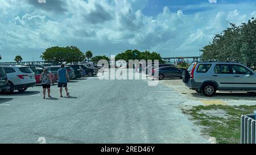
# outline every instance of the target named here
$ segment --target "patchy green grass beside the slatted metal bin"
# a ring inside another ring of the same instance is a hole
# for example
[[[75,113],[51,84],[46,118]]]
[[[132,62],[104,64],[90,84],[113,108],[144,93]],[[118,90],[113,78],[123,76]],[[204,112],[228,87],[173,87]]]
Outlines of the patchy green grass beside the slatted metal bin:
[[[184,108],[183,113],[191,115],[195,124],[203,126],[205,135],[216,137],[217,143],[239,144],[241,115],[252,114],[254,110],[256,106],[211,105],[191,107],[189,110]],[[221,115],[218,111],[222,111]]]

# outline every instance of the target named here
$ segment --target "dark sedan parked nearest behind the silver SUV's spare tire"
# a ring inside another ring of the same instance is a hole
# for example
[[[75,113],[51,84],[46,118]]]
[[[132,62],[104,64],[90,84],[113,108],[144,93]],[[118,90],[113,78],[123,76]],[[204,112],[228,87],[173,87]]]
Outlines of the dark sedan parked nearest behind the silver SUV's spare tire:
[[[158,72],[158,75],[155,73]],[[182,78],[183,70],[173,67],[173,66],[163,66],[157,69],[152,70],[152,76],[162,80],[164,78]]]

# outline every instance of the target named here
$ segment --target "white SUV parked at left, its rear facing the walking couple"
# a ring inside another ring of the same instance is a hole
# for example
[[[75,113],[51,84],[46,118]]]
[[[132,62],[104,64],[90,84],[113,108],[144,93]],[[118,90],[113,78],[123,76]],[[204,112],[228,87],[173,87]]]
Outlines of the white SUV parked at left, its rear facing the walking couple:
[[[2,66],[10,84],[9,93],[14,90],[26,91],[28,87],[36,85],[35,74],[29,66]]]

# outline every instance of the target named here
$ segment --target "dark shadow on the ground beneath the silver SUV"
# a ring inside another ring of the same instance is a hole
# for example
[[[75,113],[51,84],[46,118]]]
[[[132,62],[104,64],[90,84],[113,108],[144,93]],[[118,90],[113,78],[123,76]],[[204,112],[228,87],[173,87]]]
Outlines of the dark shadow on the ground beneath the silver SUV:
[[[249,93],[216,93],[213,97],[205,97],[201,93],[191,93],[195,98],[201,99],[243,99],[243,100],[256,100],[256,95],[251,95]]]

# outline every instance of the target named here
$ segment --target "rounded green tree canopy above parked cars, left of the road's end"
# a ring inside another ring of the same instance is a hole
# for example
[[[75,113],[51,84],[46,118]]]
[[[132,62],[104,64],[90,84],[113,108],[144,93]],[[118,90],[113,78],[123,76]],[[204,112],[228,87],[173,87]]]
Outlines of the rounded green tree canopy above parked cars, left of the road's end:
[[[49,62],[80,62],[85,60],[85,55],[76,46],[51,47],[47,48],[41,56],[43,60]]]

